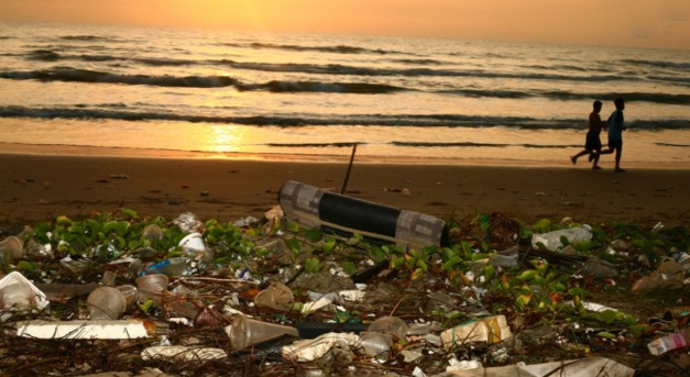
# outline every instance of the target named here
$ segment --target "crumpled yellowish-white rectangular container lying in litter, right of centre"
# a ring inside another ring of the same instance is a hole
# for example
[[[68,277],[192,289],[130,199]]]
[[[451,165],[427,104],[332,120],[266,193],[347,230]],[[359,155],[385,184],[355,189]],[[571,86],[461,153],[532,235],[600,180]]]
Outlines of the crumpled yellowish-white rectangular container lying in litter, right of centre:
[[[481,320],[472,320],[459,326],[448,329],[441,333],[443,346],[449,348],[456,344],[466,342],[499,343],[511,337],[504,315],[489,317]]]

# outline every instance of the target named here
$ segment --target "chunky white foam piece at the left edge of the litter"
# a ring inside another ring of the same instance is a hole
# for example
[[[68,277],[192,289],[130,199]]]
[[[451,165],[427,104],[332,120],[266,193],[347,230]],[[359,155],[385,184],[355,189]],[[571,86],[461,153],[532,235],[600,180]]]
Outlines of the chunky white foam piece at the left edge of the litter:
[[[0,279],[0,309],[39,309],[51,303],[41,289],[18,271],[12,271]]]

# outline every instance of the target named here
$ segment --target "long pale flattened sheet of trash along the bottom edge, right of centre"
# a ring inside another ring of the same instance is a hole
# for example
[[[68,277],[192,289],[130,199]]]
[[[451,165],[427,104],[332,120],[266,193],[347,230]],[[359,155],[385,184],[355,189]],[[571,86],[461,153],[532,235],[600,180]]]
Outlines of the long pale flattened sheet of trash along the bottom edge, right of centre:
[[[551,362],[544,364],[526,365],[517,363],[515,365],[499,366],[491,368],[478,367],[464,370],[446,372],[438,377],[514,377],[514,376],[532,376],[532,377],[590,377],[590,376],[607,376],[607,377],[632,377],[635,369],[616,363],[605,357],[587,357],[573,361]]]

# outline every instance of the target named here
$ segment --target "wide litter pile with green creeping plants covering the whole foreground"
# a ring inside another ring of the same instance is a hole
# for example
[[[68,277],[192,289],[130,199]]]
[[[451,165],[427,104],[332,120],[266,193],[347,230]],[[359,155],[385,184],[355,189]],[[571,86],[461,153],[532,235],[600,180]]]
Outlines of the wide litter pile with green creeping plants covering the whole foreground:
[[[0,373],[690,372],[686,228],[443,222],[285,189],[264,219],[119,209],[4,234]]]

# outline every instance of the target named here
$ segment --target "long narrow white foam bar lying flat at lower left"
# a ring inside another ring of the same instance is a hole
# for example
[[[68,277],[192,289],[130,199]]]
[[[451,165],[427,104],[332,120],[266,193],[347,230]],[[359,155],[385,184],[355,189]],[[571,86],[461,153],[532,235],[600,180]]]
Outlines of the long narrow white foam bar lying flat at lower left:
[[[17,335],[36,339],[147,337],[144,321],[29,321],[17,324]]]

